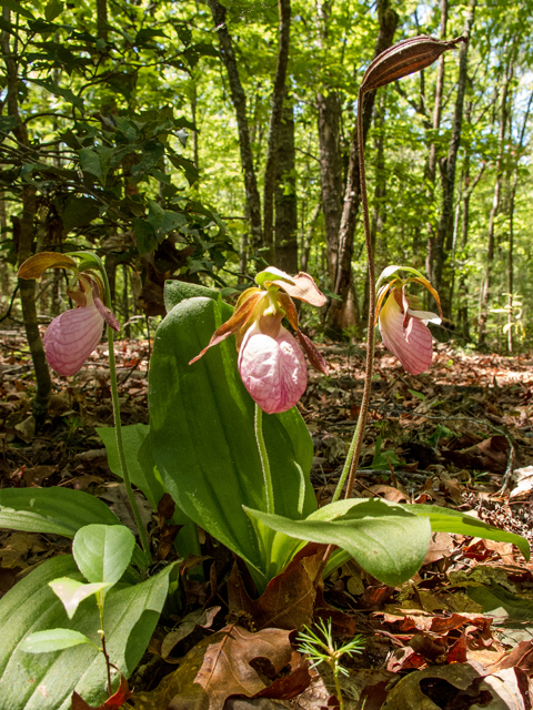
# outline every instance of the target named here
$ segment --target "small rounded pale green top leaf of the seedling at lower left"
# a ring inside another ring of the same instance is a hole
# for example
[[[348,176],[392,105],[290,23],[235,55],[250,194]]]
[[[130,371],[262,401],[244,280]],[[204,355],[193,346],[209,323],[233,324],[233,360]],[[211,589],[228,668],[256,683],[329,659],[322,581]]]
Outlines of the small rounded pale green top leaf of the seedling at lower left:
[[[130,564],[135,538],[123,525],[88,525],[74,536],[72,555],[90,582],[115,585]]]

